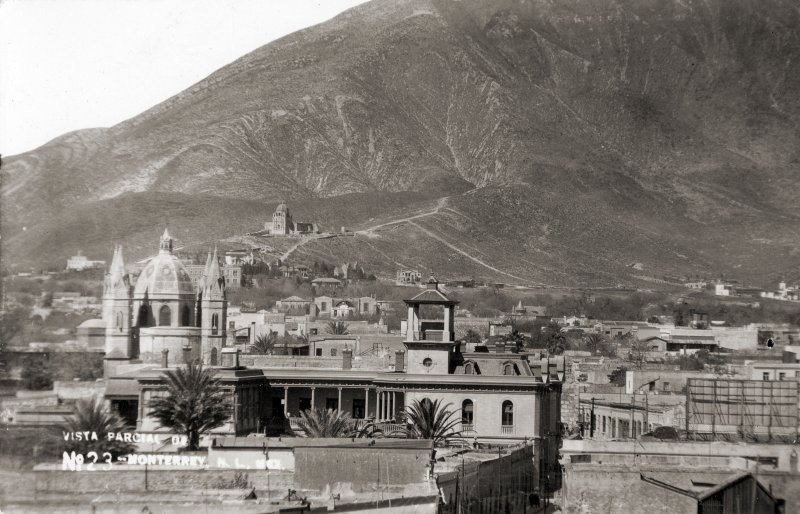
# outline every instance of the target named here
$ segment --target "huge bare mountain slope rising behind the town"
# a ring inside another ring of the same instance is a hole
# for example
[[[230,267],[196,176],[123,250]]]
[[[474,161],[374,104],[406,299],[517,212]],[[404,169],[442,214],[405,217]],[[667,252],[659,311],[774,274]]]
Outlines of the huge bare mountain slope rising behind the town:
[[[4,263],[288,201],[357,231],[293,259],[387,276],[766,285],[800,262],[798,120],[792,0],[373,0],[5,159]]]

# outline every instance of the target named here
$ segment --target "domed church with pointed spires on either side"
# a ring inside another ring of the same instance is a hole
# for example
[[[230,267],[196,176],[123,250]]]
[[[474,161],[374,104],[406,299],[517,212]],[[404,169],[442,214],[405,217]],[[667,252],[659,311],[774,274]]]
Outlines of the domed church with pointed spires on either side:
[[[117,247],[103,288],[106,376],[121,364],[164,356],[170,364],[190,359],[216,365],[225,344],[227,305],[216,249],[195,286],[172,253],[168,231],[135,282]]]

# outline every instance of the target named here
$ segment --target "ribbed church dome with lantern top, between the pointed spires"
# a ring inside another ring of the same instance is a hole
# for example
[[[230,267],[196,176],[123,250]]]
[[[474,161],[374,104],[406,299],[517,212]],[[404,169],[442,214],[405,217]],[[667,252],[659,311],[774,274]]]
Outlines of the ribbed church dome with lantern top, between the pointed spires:
[[[172,254],[172,238],[165,231],[161,238],[161,250],[145,265],[136,280],[133,294],[141,298],[145,294],[154,296],[194,295],[195,288],[186,268]]]

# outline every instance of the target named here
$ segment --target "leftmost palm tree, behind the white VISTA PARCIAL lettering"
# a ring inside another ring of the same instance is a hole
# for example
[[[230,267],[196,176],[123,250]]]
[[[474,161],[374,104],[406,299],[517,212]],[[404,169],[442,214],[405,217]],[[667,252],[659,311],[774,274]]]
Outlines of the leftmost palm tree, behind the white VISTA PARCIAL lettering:
[[[78,400],[75,404],[75,411],[72,416],[65,420],[59,427],[63,432],[93,432],[97,434],[97,440],[80,441],[68,440],[65,444],[67,452],[80,453],[86,455],[89,452],[96,452],[100,460],[105,460],[103,453],[108,452],[113,458],[118,455],[134,451],[135,446],[130,442],[109,440],[107,434],[126,432],[129,430],[125,421],[114,411],[106,408],[103,401],[99,398],[88,400]]]

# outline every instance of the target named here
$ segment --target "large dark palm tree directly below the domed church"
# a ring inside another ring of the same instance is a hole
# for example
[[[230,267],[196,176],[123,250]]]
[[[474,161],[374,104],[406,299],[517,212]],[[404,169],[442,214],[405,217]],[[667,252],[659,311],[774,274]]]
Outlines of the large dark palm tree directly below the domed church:
[[[159,426],[184,434],[187,449],[200,447],[200,436],[228,421],[230,407],[219,385],[216,372],[202,364],[189,363],[185,368],[164,373],[167,396],[152,402],[151,415]]]

